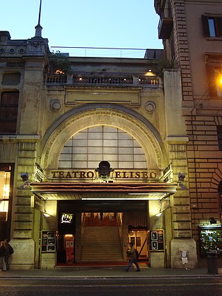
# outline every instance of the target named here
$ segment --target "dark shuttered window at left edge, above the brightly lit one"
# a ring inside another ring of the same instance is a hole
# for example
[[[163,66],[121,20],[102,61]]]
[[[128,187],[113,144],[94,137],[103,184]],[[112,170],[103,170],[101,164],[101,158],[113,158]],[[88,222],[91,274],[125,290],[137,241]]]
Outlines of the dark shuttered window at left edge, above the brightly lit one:
[[[2,92],[0,101],[0,133],[15,134],[19,92]]]

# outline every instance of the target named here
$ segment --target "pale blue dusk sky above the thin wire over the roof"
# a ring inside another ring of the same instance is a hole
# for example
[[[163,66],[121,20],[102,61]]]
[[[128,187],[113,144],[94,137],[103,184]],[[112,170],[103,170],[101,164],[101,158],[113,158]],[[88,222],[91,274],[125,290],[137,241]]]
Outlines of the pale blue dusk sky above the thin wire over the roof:
[[[162,49],[154,0],[42,0],[42,37],[49,46]],[[34,37],[40,0],[2,1],[0,31]]]

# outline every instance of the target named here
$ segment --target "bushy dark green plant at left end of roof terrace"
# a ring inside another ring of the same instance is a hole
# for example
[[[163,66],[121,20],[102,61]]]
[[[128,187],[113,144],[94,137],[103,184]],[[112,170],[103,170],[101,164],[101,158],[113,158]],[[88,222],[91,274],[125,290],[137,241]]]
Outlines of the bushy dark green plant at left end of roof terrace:
[[[69,58],[60,51],[49,55],[49,71],[54,74],[65,74],[71,71]]]

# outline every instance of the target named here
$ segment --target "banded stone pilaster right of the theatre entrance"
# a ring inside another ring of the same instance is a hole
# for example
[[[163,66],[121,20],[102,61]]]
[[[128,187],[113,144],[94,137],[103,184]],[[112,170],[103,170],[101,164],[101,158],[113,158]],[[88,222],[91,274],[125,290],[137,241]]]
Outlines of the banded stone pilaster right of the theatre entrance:
[[[197,254],[196,241],[191,238],[191,209],[188,187],[188,163],[187,163],[188,137],[168,137],[169,159],[173,167],[173,180],[178,182],[178,173],[185,173],[185,186],[173,195],[171,209],[173,239],[171,241],[171,268],[183,268],[182,252],[187,252],[189,258],[187,268],[196,268]]]

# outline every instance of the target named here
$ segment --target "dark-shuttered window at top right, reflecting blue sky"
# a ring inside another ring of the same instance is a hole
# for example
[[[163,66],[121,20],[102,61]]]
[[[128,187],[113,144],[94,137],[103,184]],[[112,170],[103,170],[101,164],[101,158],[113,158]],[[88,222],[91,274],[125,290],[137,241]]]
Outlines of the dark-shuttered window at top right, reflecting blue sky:
[[[201,15],[203,35],[206,37],[222,37],[222,17]]]

